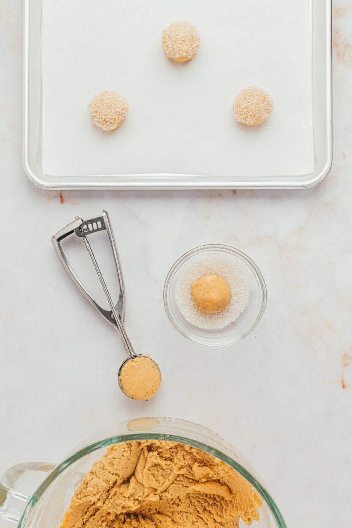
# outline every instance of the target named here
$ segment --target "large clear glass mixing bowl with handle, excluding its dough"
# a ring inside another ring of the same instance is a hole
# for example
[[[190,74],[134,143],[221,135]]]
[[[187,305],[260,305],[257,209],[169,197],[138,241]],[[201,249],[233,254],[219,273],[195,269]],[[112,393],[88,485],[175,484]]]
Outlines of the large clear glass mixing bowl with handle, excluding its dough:
[[[85,441],[58,465],[14,466],[0,477],[0,518],[17,523],[18,528],[58,528],[75,489],[107,448],[119,442],[145,439],[179,442],[220,458],[249,480],[263,498],[260,521],[253,527],[286,528],[277,505],[243,456],[211,430],[173,418],[139,418],[118,423]]]

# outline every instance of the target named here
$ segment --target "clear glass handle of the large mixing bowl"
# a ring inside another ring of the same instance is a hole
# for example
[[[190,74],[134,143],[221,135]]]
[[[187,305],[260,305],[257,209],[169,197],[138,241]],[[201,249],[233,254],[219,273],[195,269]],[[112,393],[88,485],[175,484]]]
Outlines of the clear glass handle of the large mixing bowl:
[[[26,462],[7,469],[0,477],[0,521],[17,524],[28,499],[54,467],[45,462]]]

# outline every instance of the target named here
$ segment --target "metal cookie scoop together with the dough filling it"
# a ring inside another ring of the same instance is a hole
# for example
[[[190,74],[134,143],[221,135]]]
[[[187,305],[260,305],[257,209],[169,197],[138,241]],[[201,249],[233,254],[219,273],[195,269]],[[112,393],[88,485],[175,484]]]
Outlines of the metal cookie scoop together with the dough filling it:
[[[119,280],[120,291],[116,305],[113,304],[106,283],[103,279],[103,276],[101,275],[97,260],[94,257],[94,253],[87,239],[88,235],[102,230],[106,230],[107,232]],[[94,301],[87,289],[85,289],[83,286],[78,276],[75,274],[73,268],[66,258],[61,241],[72,234],[75,234],[77,237],[83,239],[85,247],[87,248],[89,256],[93,262],[94,269],[97,272],[104,294],[108,300],[110,311],[102,308],[98,303],[96,303],[96,301]],[[150,359],[148,356],[136,354],[126,330],[122,325],[123,319],[125,318],[125,287],[123,286],[120,260],[116,248],[115,238],[113,237],[110,226],[108,213],[103,211],[102,216],[98,216],[97,218],[92,218],[91,220],[86,221],[83,221],[81,218],[76,216],[74,222],[66,225],[66,227],[58,231],[55,235],[53,235],[51,240],[64,269],[68,273],[75,286],[77,286],[85,299],[88,300],[89,304],[91,304],[93,308],[96,309],[97,312],[117,330],[117,333],[120,336],[127,355],[127,359],[122,363],[118,373],[120,389],[129,398],[135,400],[149,400],[159,389],[161,383],[161,374],[159,366],[157,363],[155,363],[155,361]]]

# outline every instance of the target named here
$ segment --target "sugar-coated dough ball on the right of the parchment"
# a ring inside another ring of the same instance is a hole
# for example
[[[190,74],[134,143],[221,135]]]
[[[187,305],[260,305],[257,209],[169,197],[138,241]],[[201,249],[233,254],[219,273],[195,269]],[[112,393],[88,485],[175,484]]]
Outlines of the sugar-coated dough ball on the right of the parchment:
[[[242,90],[233,103],[235,118],[249,127],[262,125],[268,119],[273,102],[270,95],[258,86]]]

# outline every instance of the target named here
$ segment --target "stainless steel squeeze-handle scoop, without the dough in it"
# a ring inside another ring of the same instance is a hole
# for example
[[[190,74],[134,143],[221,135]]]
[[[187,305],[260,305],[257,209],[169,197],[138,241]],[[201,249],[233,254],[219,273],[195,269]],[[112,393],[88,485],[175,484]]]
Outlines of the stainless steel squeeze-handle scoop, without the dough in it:
[[[112,298],[109,294],[109,290],[106,286],[106,283],[103,279],[103,276],[101,274],[101,271],[99,269],[98,263],[96,258],[94,257],[94,253],[92,251],[92,248],[90,246],[90,243],[87,239],[88,235],[95,233],[97,231],[106,230],[108,239],[110,242],[110,246],[112,249],[113,258],[115,260],[115,266],[117,271],[117,276],[119,280],[119,298],[117,303],[114,305]],[[92,296],[88,293],[88,290],[83,286],[82,282],[78,278],[78,276],[75,274],[75,271],[70,265],[70,262],[66,258],[66,255],[64,253],[64,250],[61,245],[61,241],[65,238],[69,237],[70,235],[75,234],[77,237],[83,239],[83,242],[85,244],[85,247],[88,250],[89,256],[93,262],[94,269],[97,272],[100,284],[102,286],[102,289],[104,291],[104,294],[108,300],[110,310],[106,310],[102,308],[94,299]],[[146,357],[149,361],[153,362],[154,365],[157,366],[159,369],[157,363],[155,363],[154,360],[150,359],[150,357],[142,356],[141,354],[136,354],[134,351],[134,348],[129,340],[129,337],[126,333],[125,328],[123,327],[122,323],[125,318],[125,287],[123,285],[123,278],[122,278],[122,272],[121,272],[121,265],[120,265],[120,259],[118,256],[117,248],[116,248],[116,242],[115,238],[112,233],[109,216],[106,211],[103,211],[102,216],[98,216],[97,218],[92,218],[91,220],[83,221],[81,218],[78,218],[76,216],[75,221],[72,222],[69,225],[66,225],[66,227],[62,228],[60,231],[58,231],[56,234],[52,237],[52,243],[54,245],[55,251],[58,254],[58,257],[62,263],[62,266],[68,273],[69,277],[73,281],[74,285],[77,286],[77,288],[80,290],[81,294],[84,296],[85,299],[88,300],[89,304],[97,310],[97,312],[107,320],[108,323],[110,323],[116,330],[117,333],[120,336],[120,339],[122,341],[123,347],[125,348],[127,359],[122,363],[119,373],[118,373],[118,383],[120,386],[120,389],[124,394],[126,394],[129,398],[132,398],[123,388],[121,381],[120,381],[120,374],[122,372],[123,367],[126,365],[126,363],[132,359],[135,359],[136,357]],[[134,398],[132,398],[134,399]]]

